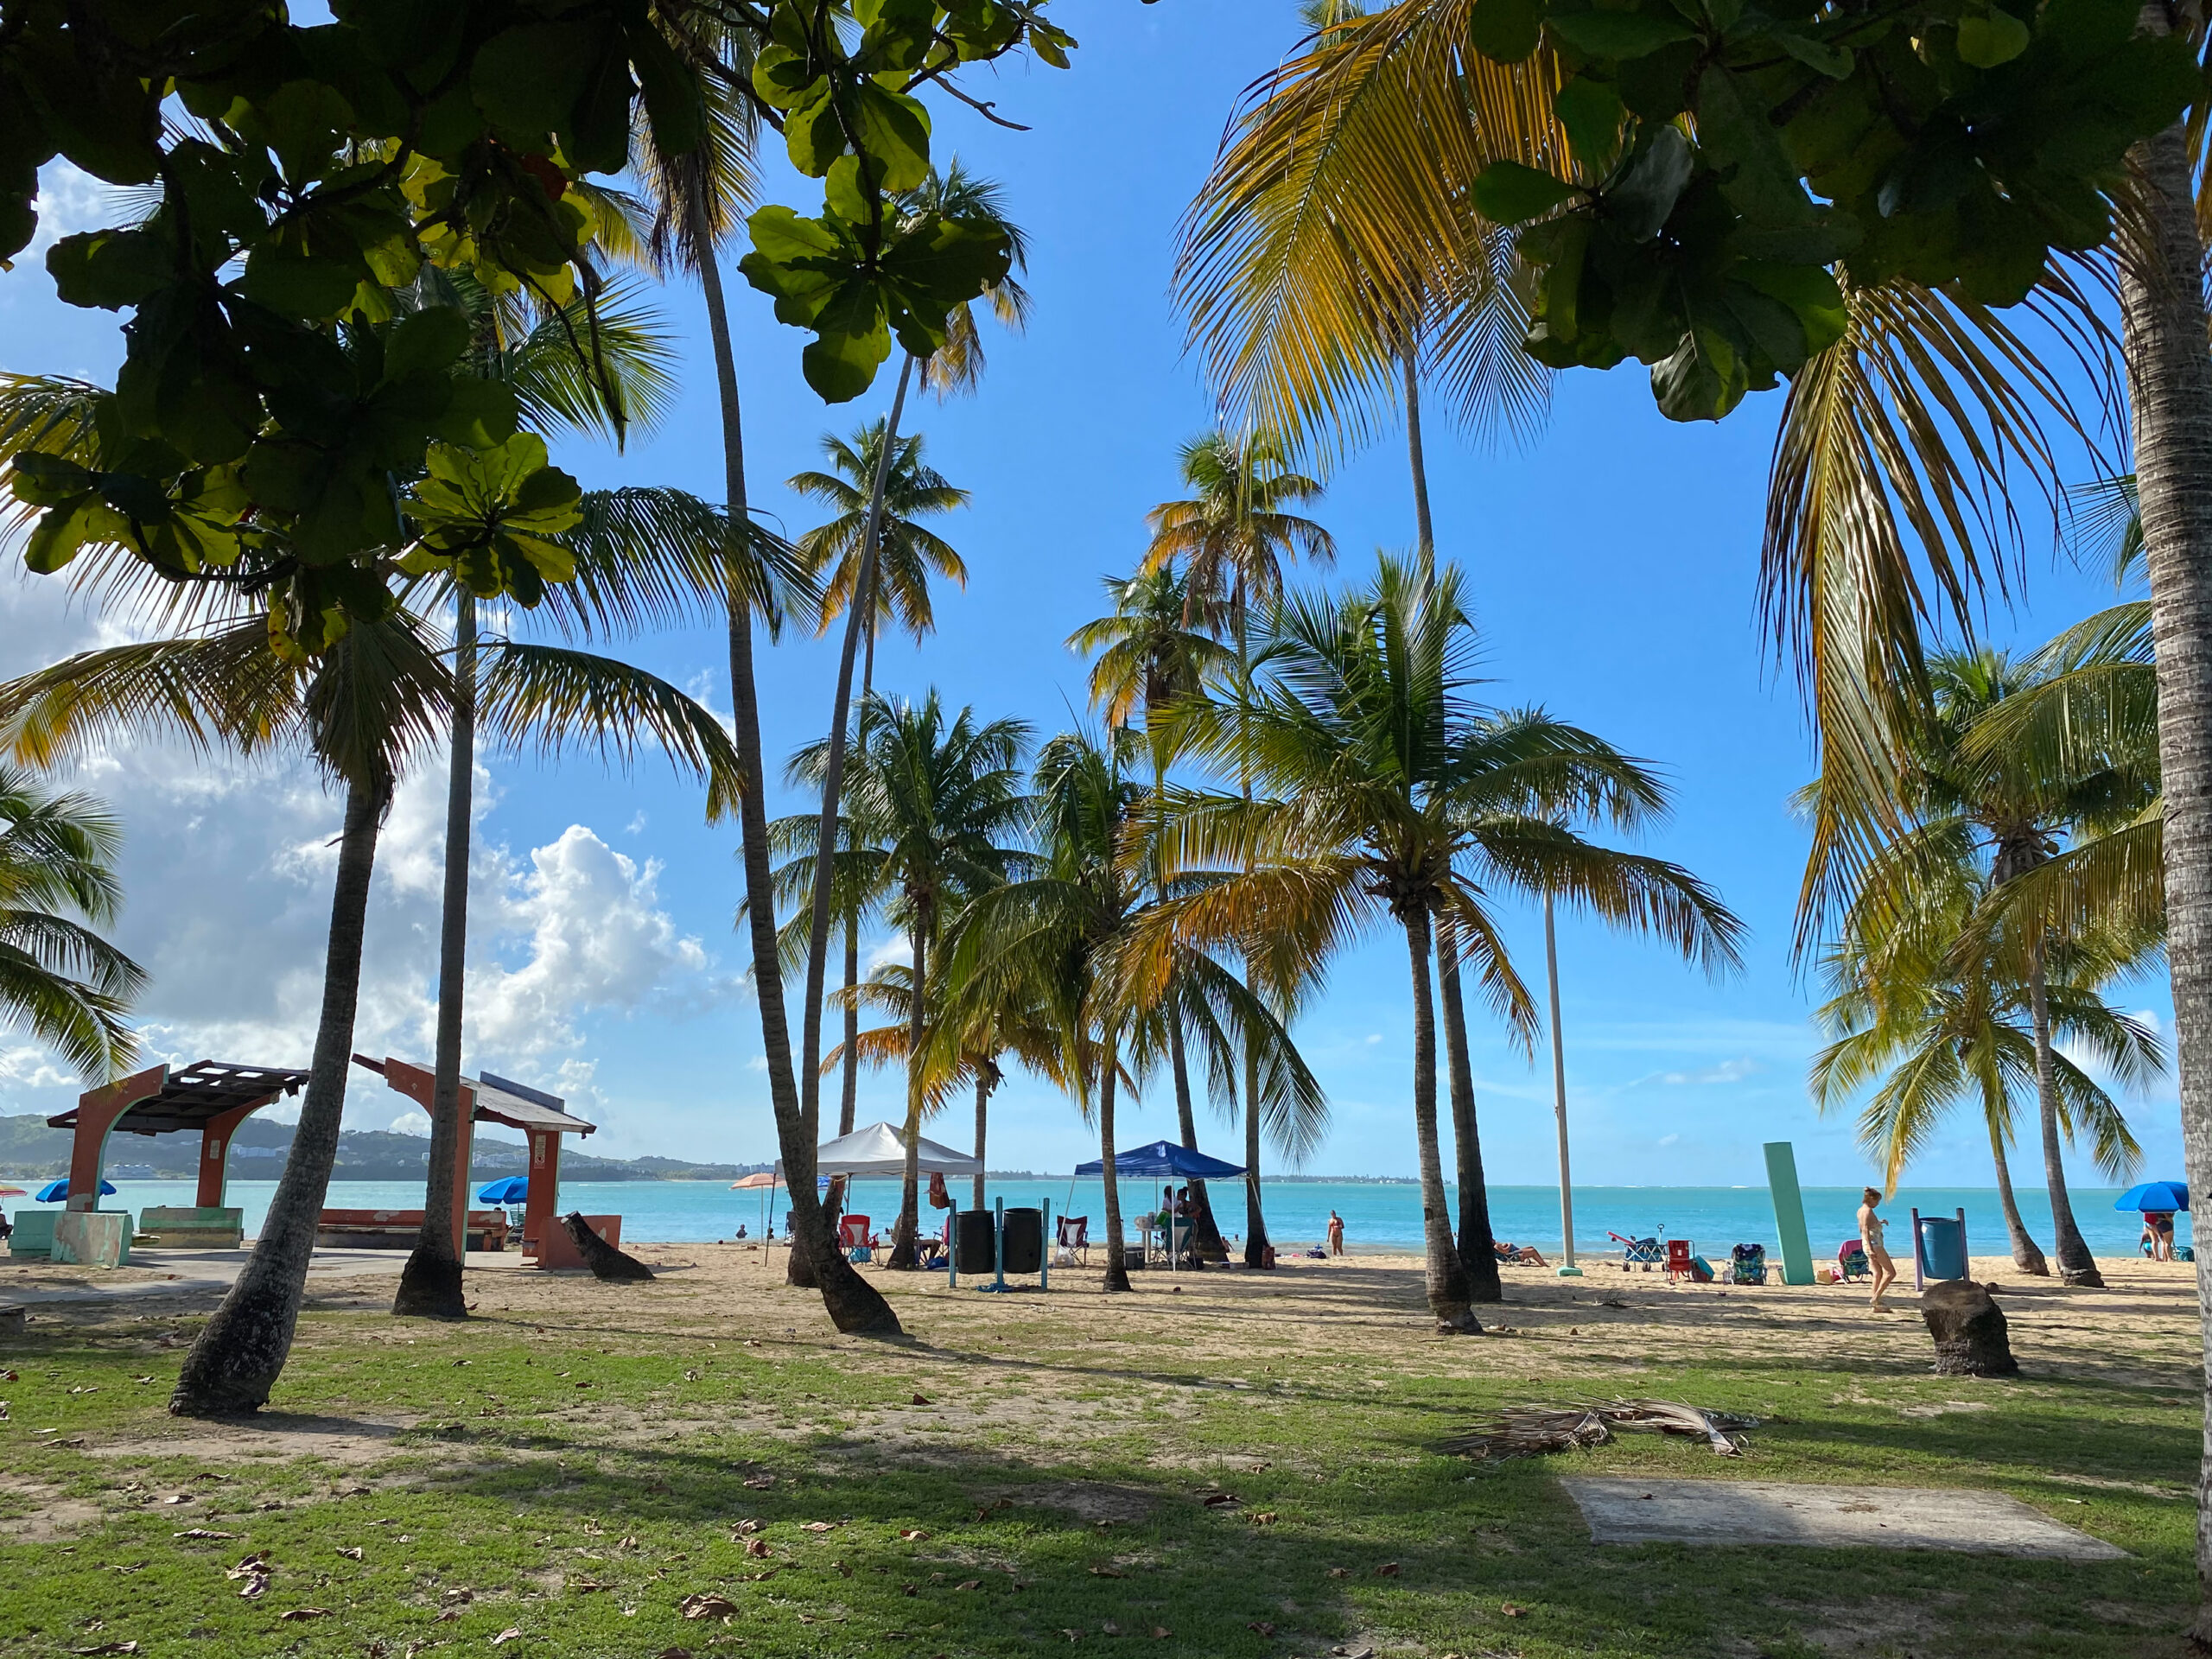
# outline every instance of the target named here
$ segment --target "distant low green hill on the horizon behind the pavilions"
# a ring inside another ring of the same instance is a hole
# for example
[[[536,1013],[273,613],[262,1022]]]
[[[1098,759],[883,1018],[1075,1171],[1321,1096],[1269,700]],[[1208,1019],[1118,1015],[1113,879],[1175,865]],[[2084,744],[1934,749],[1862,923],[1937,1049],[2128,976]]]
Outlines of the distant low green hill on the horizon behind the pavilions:
[[[588,1141],[586,1141],[588,1146]],[[230,1179],[274,1181],[292,1150],[292,1126],[248,1117],[230,1139]],[[524,1172],[526,1148],[509,1141],[478,1139],[469,1159],[469,1179],[493,1179]],[[108,1139],[106,1168],[111,1177],[146,1181],[190,1181],[199,1159],[197,1135],[115,1135]],[[394,1135],[380,1128],[349,1128],[338,1135],[336,1181],[420,1181],[429,1164],[429,1141],[422,1135]],[[562,1148],[560,1172],[566,1181],[734,1181],[765,1170],[765,1164],[688,1164],[677,1157],[591,1157],[575,1141]],[[31,1113],[0,1115],[0,1177],[13,1181],[46,1181],[69,1175],[69,1130],[46,1128]]]

